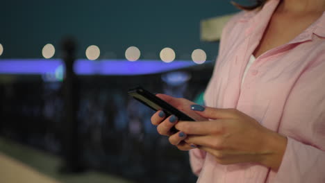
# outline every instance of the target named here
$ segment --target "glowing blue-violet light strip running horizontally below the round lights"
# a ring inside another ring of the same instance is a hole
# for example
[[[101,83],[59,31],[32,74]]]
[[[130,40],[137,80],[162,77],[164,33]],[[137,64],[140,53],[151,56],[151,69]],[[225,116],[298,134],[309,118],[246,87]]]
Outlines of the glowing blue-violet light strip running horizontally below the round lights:
[[[57,73],[62,69],[59,59],[1,59],[0,74],[34,74]],[[163,73],[196,65],[189,60],[175,60],[165,63],[160,60],[76,60],[74,71],[78,75],[132,76],[150,73]]]

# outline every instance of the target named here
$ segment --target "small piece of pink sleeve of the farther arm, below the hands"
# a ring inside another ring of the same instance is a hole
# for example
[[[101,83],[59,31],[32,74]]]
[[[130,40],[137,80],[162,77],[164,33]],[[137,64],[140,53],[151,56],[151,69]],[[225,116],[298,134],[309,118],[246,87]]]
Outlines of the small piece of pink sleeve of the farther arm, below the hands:
[[[206,158],[206,152],[199,150],[198,148],[190,150],[190,165],[192,172],[199,176],[203,167],[204,159]]]

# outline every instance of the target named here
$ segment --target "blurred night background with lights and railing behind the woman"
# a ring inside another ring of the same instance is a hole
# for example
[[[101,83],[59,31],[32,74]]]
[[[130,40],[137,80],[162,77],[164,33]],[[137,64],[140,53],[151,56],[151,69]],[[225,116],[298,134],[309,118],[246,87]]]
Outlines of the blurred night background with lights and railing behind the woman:
[[[0,182],[196,182],[188,152],[127,91],[203,104],[234,12],[222,0],[1,1]]]

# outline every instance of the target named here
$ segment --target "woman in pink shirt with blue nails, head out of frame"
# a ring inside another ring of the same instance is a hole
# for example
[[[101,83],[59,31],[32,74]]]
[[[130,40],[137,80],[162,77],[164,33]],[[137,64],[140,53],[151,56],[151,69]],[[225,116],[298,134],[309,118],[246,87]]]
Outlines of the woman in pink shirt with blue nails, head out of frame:
[[[325,1],[252,9],[223,30],[207,107],[157,95],[197,121],[151,122],[190,150],[198,182],[325,182]]]

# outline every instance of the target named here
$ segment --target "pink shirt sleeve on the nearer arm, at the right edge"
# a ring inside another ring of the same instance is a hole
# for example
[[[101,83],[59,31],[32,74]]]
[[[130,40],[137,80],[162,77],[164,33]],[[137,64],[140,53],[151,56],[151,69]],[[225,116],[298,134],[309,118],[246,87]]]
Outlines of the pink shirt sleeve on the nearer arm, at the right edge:
[[[283,119],[288,137],[274,182],[325,182],[325,54],[311,53],[315,62],[292,88]]]

